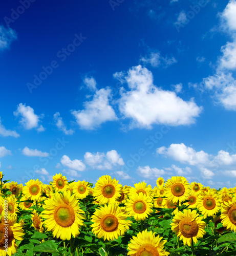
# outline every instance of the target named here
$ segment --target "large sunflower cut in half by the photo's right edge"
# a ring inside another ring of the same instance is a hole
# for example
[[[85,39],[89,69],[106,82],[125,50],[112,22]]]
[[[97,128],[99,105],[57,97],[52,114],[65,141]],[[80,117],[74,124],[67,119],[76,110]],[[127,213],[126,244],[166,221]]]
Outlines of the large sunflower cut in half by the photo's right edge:
[[[234,197],[232,201],[224,202],[221,205],[221,223],[227,229],[236,231],[236,198]]]

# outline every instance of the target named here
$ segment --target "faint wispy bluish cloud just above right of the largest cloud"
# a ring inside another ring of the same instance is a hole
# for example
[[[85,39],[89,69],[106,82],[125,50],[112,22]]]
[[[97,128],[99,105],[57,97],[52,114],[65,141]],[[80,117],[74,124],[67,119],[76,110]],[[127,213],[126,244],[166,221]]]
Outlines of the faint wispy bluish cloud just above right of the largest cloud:
[[[163,66],[164,68],[177,62],[174,57],[162,57],[159,52],[151,52],[148,56],[141,57],[139,61],[143,62],[144,65],[150,64],[152,67]]]

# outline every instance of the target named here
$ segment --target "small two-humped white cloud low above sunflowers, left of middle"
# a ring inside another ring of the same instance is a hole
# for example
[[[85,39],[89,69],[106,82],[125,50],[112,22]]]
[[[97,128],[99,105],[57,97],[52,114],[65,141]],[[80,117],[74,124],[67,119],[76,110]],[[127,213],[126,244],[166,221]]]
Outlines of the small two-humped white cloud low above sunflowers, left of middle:
[[[108,151],[106,154],[86,152],[84,161],[93,169],[99,170],[112,170],[117,166],[124,165],[123,159],[115,150]]]

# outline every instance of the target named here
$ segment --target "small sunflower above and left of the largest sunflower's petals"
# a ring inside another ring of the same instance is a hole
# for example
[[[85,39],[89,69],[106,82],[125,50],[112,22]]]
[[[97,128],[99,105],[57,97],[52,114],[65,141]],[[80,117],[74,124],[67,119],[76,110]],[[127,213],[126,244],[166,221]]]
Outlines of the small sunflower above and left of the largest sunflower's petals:
[[[38,200],[42,193],[42,182],[37,180],[29,180],[23,187],[23,194],[31,199]]]

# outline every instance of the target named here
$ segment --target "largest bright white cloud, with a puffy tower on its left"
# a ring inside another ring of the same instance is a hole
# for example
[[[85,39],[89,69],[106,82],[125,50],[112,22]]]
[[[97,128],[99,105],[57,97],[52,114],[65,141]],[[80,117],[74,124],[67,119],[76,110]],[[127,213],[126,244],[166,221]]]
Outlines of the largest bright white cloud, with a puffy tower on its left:
[[[133,67],[125,79],[130,91],[121,90],[120,112],[131,118],[133,127],[151,129],[153,124],[187,125],[195,122],[202,111],[193,99],[184,101],[175,92],[154,86],[153,74],[141,65]]]

